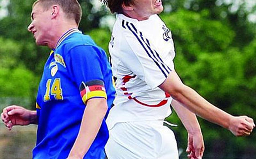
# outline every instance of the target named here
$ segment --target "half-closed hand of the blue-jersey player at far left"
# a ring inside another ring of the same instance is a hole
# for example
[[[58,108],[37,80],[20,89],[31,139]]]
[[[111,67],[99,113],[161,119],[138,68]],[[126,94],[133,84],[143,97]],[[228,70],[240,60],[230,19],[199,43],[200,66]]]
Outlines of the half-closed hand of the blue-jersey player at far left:
[[[8,130],[11,130],[14,125],[30,124],[32,116],[34,119],[36,116],[35,112],[20,106],[8,106],[1,113],[1,119]]]

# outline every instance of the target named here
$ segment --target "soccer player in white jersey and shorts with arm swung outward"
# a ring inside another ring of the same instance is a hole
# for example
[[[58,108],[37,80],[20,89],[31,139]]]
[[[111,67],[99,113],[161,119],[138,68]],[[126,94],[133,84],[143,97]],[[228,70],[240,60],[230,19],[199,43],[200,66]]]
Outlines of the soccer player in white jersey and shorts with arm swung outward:
[[[170,104],[188,130],[189,158],[201,158],[203,141],[193,113],[235,136],[250,135],[255,124],[215,107],[180,80],[174,69],[170,30],[157,14],[161,0],[103,0],[116,15],[109,52],[116,77],[116,98],[107,118],[109,159],[178,158],[173,132],[163,126]],[[188,111],[187,109],[190,111]],[[199,133],[198,133],[199,132]],[[193,154],[194,152],[194,154]]]

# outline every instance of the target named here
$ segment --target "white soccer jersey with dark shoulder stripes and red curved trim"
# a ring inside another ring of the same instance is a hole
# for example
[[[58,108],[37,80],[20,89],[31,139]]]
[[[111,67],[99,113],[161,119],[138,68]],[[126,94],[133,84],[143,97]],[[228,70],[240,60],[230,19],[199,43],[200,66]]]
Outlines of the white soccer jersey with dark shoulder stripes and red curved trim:
[[[116,98],[107,125],[162,120],[171,114],[169,94],[158,88],[174,70],[170,30],[158,15],[138,21],[116,15],[109,43]]]

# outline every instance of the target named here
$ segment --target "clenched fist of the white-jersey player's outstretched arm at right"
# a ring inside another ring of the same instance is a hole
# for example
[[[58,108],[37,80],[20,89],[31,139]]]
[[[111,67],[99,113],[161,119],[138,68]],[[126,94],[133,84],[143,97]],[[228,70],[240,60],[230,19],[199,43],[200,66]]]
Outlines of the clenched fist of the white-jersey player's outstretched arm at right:
[[[235,136],[248,136],[251,134],[255,123],[248,116],[233,116],[230,120],[228,129]]]

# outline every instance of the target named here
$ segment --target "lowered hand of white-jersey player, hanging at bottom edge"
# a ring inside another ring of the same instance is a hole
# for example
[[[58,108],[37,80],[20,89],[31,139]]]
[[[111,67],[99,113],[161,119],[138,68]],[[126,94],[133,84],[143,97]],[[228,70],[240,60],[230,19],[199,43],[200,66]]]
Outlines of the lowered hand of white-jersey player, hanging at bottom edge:
[[[203,135],[201,132],[196,134],[188,133],[188,147],[186,152],[189,159],[201,159],[205,151]]]

